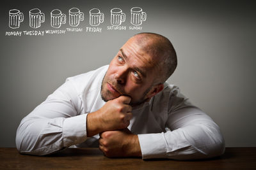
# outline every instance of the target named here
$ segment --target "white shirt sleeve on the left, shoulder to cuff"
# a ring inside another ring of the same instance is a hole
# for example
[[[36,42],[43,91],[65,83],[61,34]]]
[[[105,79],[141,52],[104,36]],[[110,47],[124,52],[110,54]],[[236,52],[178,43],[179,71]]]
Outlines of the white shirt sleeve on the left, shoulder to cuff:
[[[20,153],[46,155],[86,140],[83,104],[72,81],[66,81],[28,116],[17,129]]]

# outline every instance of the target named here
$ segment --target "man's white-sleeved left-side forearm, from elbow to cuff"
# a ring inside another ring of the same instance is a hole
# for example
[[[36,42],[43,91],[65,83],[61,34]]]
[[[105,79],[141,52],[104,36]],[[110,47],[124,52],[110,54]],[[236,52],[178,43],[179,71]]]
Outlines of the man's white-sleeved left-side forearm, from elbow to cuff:
[[[28,115],[17,129],[17,150],[31,155],[47,155],[82,143],[86,139],[85,120],[86,115],[70,118],[40,118]]]

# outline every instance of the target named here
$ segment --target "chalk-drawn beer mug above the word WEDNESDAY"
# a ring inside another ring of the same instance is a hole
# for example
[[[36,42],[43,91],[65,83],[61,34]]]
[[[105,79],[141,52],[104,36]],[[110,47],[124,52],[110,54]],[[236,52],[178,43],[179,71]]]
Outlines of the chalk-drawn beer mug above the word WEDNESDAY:
[[[61,24],[66,24],[66,15],[60,10],[55,9],[51,11],[51,26],[60,28]]]

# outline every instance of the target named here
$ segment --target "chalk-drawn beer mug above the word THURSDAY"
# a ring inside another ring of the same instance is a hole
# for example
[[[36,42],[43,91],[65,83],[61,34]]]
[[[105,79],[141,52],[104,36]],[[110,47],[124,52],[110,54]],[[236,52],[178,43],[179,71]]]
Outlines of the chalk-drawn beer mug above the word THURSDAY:
[[[84,20],[84,13],[81,12],[78,8],[71,8],[69,10],[69,25],[76,27],[79,25],[80,21]]]

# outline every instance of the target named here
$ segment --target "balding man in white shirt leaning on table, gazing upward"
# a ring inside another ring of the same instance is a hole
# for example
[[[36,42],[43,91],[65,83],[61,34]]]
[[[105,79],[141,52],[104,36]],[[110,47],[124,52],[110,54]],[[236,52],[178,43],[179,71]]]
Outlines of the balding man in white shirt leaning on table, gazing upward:
[[[17,129],[20,153],[98,147],[107,157],[203,159],[225,150],[210,117],[165,81],[177,66],[172,43],[140,33],[109,66],[61,85]]]

